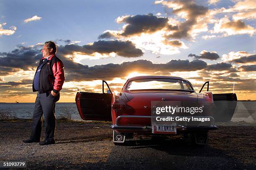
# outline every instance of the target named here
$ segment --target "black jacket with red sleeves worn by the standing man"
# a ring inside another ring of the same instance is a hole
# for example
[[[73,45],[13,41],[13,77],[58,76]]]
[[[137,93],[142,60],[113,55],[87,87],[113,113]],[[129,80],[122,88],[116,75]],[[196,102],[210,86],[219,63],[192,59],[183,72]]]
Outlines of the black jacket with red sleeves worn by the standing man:
[[[39,65],[44,61],[44,57],[41,58]],[[36,75],[36,73],[35,73]],[[51,55],[48,58],[48,61],[44,63],[41,67],[39,74],[39,93],[51,92],[53,90],[55,93],[58,93],[62,89],[62,85],[65,80],[64,75],[64,65],[61,60],[56,57],[56,55]],[[33,82],[33,92],[37,90],[34,88]]]

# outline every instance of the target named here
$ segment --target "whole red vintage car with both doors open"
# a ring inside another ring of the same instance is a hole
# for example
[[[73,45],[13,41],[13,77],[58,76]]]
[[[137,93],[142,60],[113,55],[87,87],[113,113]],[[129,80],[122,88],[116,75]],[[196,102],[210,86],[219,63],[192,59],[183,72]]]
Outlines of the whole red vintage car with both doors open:
[[[104,93],[104,83],[108,87],[107,93]],[[201,92],[206,84],[207,92]],[[77,92],[76,104],[83,120],[112,121],[113,125],[110,128],[113,129],[115,145],[123,145],[125,137],[133,133],[151,135],[182,133],[184,137],[191,138],[194,143],[207,144],[208,130],[217,129],[214,119],[228,121],[233,116],[236,102],[227,104],[226,101],[237,100],[234,93],[212,94],[208,90],[209,82],[205,82],[200,92],[197,93],[192,84],[181,77],[138,76],[128,79],[118,95],[113,95],[107,82],[103,80],[102,93]],[[189,124],[187,120],[176,121],[177,115],[174,115],[174,122],[167,121],[164,124],[157,122],[156,119],[160,120],[161,116],[154,111],[156,105],[174,101],[179,102],[179,106],[204,107],[207,113],[192,115],[189,112],[183,116],[192,117],[192,119],[196,117],[197,120],[197,117],[205,117],[209,119],[208,123],[201,123],[199,120],[200,123],[195,121],[196,124],[195,122]],[[216,106],[222,109],[214,113]]]

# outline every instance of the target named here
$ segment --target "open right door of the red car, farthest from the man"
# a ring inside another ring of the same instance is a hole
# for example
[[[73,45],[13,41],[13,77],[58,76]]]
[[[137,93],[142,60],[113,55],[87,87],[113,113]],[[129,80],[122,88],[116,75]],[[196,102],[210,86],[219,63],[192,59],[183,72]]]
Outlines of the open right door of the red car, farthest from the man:
[[[209,91],[209,81],[205,82],[202,86],[207,84],[207,91]],[[237,105],[236,93],[220,93],[212,94],[214,102],[214,120],[215,122],[228,122],[232,119]]]

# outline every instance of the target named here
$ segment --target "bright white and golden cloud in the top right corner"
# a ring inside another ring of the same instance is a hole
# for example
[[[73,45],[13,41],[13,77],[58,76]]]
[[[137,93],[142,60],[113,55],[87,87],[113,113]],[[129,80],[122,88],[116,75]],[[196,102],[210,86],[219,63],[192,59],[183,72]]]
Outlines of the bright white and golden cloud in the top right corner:
[[[255,0],[234,0],[233,2],[235,5],[231,7],[220,7],[209,10],[208,23],[215,24],[209,33],[222,33],[222,35],[216,35],[217,37],[227,37],[238,34],[248,34],[252,36],[255,33],[253,26],[247,25],[245,22],[245,20],[256,19]],[[231,18],[233,20],[231,20]],[[211,37],[209,35],[203,38]]]

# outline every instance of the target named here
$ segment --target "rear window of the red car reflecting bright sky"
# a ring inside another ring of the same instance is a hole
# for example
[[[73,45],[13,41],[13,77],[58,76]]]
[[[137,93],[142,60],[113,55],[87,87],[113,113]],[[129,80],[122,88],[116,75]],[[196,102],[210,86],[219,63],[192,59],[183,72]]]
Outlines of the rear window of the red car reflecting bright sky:
[[[193,88],[186,80],[177,79],[139,79],[129,81],[125,90],[189,90]]]

